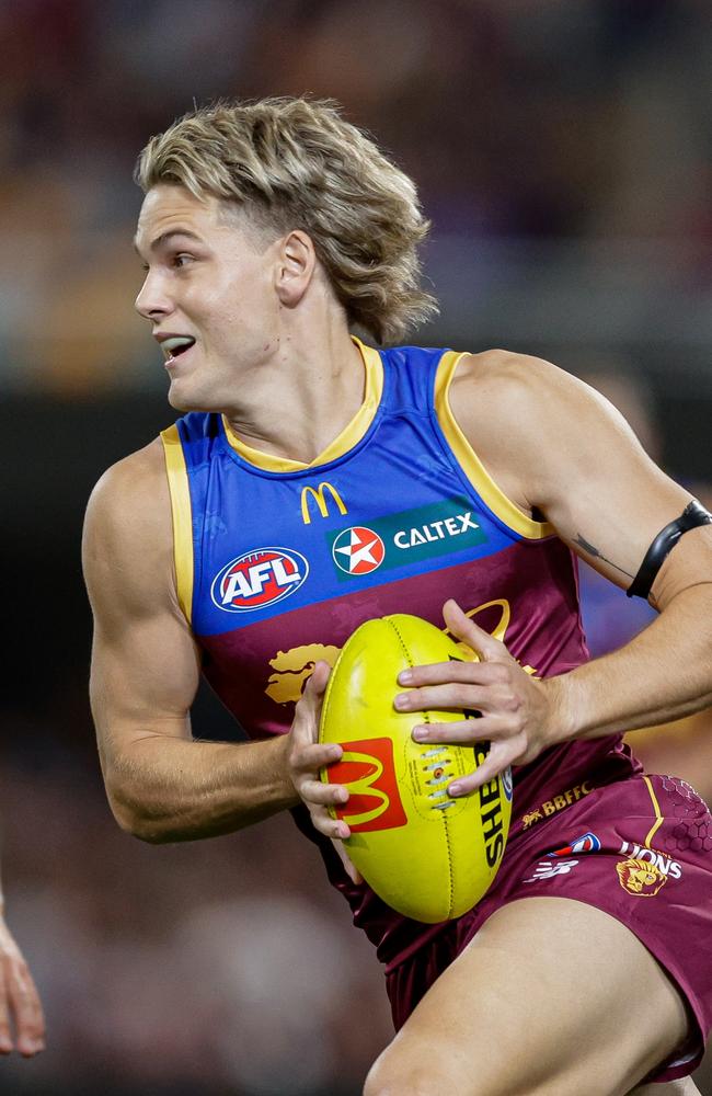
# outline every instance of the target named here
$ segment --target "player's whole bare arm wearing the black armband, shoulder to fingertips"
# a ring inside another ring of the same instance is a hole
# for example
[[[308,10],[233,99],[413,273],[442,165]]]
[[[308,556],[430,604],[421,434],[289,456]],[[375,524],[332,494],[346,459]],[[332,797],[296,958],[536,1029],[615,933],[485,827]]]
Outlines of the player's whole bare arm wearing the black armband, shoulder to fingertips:
[[[623,587],[655,536],[690,501],[602,397],[547,362],[504,352],[472,357],[458,372],[451,406],[499,488],[522,511],[546,516],[575,551]],[[449,605],[450,630],[480,651],[483,664],[417,671],[401,678],[420,686],[417,692],[397,703],[414,710],[452,707],[457,695],[457,706],[482,710],[478,735],[501,744],[460,790],[510,762],[532,761],[556,741],[699,710],[712,703],[712,526],[680,539],[651,600],[659,617],[625,647],[542,682],[528,677],[503,644]],[[453,676],[464,688],[453,690]],[[453,731],[432,727],[421,738],[448,735]],[[471,738],[472,726],[463,724],[461,737]]]

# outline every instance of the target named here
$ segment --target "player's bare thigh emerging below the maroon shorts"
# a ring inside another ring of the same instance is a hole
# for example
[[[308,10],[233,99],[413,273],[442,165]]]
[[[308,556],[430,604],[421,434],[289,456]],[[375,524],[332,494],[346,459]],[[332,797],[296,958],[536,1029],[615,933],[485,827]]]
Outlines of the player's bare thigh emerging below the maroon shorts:
[[[581,902],[528,898],[493,914],[438,978],[365,1096],[624,1096],[687,1026],[628,928]]]

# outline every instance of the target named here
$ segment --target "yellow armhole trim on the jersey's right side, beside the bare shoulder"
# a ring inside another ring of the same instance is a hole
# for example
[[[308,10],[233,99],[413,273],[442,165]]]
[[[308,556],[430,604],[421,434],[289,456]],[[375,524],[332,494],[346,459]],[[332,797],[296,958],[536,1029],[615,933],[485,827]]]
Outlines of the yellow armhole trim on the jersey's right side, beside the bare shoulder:
[[[552,525],[548,522],[535,522],[499,490],[452,414],[448,393],[456,369],[463,357],[464,354],[447,351],[438,363],[435,378],[435,413],[440,429],[472,487],[505,525],[530,540],[550,537],[554,532]]]

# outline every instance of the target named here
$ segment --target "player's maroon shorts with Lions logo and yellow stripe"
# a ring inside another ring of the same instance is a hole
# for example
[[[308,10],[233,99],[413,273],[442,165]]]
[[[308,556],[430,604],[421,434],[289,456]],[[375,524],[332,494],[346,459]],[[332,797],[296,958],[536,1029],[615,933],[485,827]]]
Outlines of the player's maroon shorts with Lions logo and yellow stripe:
[[[712,817],[688,784],[634,776],[513,833],[489,893],[387,974],[399,1028],[495,910],[529,895],[586,902],[627,925],[689,1005],[688,1044],[648,1081],[699,1065],[712,1027]]]

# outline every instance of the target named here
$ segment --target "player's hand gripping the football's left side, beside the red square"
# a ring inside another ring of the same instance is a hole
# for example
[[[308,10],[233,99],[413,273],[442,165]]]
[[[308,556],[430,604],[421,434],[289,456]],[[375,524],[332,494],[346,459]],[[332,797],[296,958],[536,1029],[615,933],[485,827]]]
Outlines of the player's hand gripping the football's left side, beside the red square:
[[[342,784],[323,784],[319,778],[319,769],[340,761],[343,753],[335,742],[319,742],[319,717],[330,673],[328,662],[318,662],[305,686],[289,732],[287,766],[295,791],[317,830],[325,837],[343,841],[351,836],[351,830],[345,822],[333,819],[329,808],[345,803],[348,791]]]

